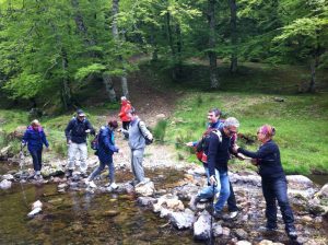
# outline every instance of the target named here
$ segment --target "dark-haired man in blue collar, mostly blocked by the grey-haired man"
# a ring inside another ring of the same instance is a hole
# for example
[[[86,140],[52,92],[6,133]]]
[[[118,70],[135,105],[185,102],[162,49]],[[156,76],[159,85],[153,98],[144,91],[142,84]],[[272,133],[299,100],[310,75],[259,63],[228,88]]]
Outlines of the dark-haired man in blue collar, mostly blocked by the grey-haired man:
[[[220,116],[221,116],[221,110],[219,108],[210,109],[208,113],[208,121],[209,121],[208,128],[204,131],[201,140],[186,143],[186,145],[194,147],[196,149],[197,158],[203,164],[203,167],[204,167],[204,171],[206,171],[206,174],[208,177],[208,183],[210,183],[209,167],[208,167],[208,161],[207,161],[209,137],[212,131],[223,128],[224,119],[220,119]],[[237,135],[234,133],[231,137],[231,145],[234,145],[236,140],[237,140]],[[207,186],[200,192],[203,192],[203,191],[212,192],[212,188],[210,186]],[[189,203],[190,208],[196,210],[197,202],[199,202],[199,201],[200,201],[200,199],[198,196],[192,197],[190,200],[190,203]],[[230,214],[227,218],[235,219],[238,214],[239,209],[237,207],[235,194],[234,194],[231,183],[230,183],[230,197],[227,199],[227,209],[230,211]]]

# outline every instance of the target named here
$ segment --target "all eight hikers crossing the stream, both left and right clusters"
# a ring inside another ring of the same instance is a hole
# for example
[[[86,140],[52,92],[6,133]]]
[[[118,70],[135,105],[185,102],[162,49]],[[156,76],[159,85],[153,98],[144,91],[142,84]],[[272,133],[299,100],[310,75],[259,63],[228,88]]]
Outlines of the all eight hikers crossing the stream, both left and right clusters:
[[[202,162],[208,185],[203,187],[195,197],[191,198],[190,209],[196,210],[197,203],[203,199],[215,200],[212,215],[215,219],[234,219],[238,215],[239,208],[236,203],[233,186],[229,178],[227,163],[232,155],[239,160],[251,159],[251,163],[258,166],[261,176],[262,192],[266,200],[266,231],[277,230],[277,205],[280,207],[282,219],[285,224],[286,234],[291,240],[297,237],[294,217],[288,198],[288,185],[283,172],[280,151],[277,143],[272,140],[276,135],[274,127],[270,125],[261,126],[257,131],[257,139],[261,145],[258,151],[251,152],[237,144],[237,132],[239,121],[234,117],[221,119],[221,112],[212,108],[208,112],[208,127],[199,141],[188,142],[186,145],[192,147],[197,151],[198,159]],[[87,176],[87,133],[95,135],[95,129],[86,119],[83,110],[79,109],[73,117],[65,133],[68,143],[68,170],[67,177],[71,177],[77,163],[77,155],[80,155],[80,171],[85,178],[85,183],[95,187],[93,179],[107,165],[109,170],[109,187],[116,189],[115,167],[113,154],[118,153],[119,149],[115,144],[115,131],[122,132],[129,141],[131,150],[131,170],[134,179],[131,182],[134,186],[139,183],[147,183],[149,178],[144,177],[142,166],[143,153],[147,144],[153,140],[152,133],[148,130],[130,102],[122,96],[121,108],[118,114],[122,121],[122,128],[118,129],[117,120],[109,120],[106,126],[102,126],[96,137],[96,154],[99,160],[99,166]],[[40,178],[42,152],[43,145],[49,147],[46,135],[37,120],[33,120],[26,129],[22,144],[27,143],[28,151],[33,158],[35,178]],[[223,208],[227,203],[230,213],[223,215]]]

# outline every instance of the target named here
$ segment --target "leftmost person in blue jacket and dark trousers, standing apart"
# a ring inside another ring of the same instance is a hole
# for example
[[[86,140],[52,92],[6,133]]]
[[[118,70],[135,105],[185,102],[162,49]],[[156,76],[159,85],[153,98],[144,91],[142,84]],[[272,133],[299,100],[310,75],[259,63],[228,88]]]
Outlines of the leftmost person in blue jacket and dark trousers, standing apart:
[[[34,178],[40,179],[43,145],[45,144],[48,149],[49,143],[39,121],[36,119],[31,122],[23,136],[22,147],[26,143],[33,159]]]

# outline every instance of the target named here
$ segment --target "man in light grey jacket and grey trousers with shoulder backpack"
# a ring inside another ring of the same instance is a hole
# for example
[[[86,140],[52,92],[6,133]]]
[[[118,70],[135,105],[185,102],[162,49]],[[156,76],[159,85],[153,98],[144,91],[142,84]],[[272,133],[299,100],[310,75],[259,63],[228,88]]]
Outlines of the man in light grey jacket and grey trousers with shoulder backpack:
[[[144,177],[142,160],[145,148],[145,139],[152,141],[153,136],[147,129],[144,121],[140,120],[137,116],[133,107],[131,107],[128,112],[128,116],[131,118],[130,127],[128,130],[121,129],[121,132],[129,138],[129,147],[131,149],[131,168],[134,175],[132,184],[137,185],[148,180],[148,178]]]

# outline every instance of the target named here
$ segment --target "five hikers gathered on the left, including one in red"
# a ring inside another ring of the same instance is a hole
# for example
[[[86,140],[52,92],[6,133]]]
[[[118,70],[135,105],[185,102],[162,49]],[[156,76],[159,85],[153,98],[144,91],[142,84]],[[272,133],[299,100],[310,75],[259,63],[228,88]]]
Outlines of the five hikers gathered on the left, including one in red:
[[[72,177],[73,171],[77,165],[77,156],[80,160],[81,176],[85,178],[85,183],[91,187],[96,187],[93,179],[104,170],[107,165],[109,170],[109,187],[116,189],[115,184],[115,167],[113,163],[113,154],[118,153],[119,149],[115,144],[115,130],[121,131],[126,139],[129,140],[129,147],[131,149],[131,168],[134,175],[134,179],[131,180],[133,185],[148,182],[149,178],[144,177],[144,171],[142,166],[143,152],[148,141],[153,140],[152,133],[148,130],[144,121],[140,120],[136,109],[131,106],[131,103],[125,97],[121,97],[121,108],[118,114],[122,121],[121,129],[118,129],[117,120],[109,120],[106,126],[102,126],[95,140],[97,141],[97,149],[95,154],[98,156],[99,166],[96,167],[90,175],[87,175],[87,135],[95,136],[96,131],[87,120],[86,115],[82,109],[77,110],[77,115],[69,121],[65,129],[65,135],[68,144],[68,166],[67,177]],[[33,159],[34,178],[42,179],[42,152],[43,145],[49,147],[46,135],[38,120],[33,120],[31,126],[27,127],[23,140],[22,147],[27,144],[27,149]]]

